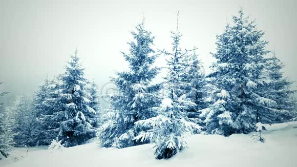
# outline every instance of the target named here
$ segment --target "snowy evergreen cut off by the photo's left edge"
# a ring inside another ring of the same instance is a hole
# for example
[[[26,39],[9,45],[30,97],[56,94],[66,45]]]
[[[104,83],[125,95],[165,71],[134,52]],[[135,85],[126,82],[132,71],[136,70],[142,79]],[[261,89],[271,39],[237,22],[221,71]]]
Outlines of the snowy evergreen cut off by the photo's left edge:
[[[0,85],[3,82],[0,82]],[[0,92],[0,96],[4,96],[7,92]],[[9,125],[8,113],[1,107],[3,103],[0,103],[0,160],[3,157],[9,156],[9,151],[13,148],[14,133]]]

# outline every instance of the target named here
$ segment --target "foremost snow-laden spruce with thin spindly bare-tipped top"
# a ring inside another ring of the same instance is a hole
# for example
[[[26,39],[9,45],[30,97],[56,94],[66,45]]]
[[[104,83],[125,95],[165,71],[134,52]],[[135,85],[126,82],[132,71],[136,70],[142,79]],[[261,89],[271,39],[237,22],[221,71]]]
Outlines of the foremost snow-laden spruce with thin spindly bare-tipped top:
[[[184,136],[187,132],[200,131],[198,124],[187,121],[182,115],[182,110],[195,103],[188,98],[180,98],[185,82],[182,81],[183,71],[182,59],[188,55],[187,51],[182,52],[179,48],[179,41],[182,35],[180,32],[173,33],[173,53],[162,51],[167,56],[167,68],[169,70],[166,79],[167,95],[158,108],[158,116],[135,122],[136,126],[144,127],[146,132],[140,133],[135,140],[149,140],[154,144],[155,156],[157,159],[166,159],[174,156],[178,151],[186,148]]]

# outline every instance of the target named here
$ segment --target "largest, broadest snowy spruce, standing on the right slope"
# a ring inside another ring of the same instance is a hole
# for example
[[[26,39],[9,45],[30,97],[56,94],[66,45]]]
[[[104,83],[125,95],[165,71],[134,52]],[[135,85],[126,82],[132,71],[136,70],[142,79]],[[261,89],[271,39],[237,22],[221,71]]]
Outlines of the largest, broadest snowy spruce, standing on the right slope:
[[[217,53],[213,54],[217,62],[209,75],[217,89],[212,105],[201,114],[206,134],[249,133],[256,130],[258,117],[274,119],[271,107],[275,101],[265,91],[268,84],[263,74],[267,60],[264,55],[268,51],[263,35],[240,9],[239,16],[233,17],[233,25],[227,25],[217,37]]]

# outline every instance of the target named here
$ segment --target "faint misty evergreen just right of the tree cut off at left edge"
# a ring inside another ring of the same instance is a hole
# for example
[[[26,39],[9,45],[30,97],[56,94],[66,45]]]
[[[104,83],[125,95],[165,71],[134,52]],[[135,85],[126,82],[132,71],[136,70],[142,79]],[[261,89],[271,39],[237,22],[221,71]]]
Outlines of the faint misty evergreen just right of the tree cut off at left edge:
[[[20,97],[14,111],[16,124],[14,126],[14,142],[16,147],[32,147],[36,145],[38,135],[36,113],[33,110],[32,100]]]

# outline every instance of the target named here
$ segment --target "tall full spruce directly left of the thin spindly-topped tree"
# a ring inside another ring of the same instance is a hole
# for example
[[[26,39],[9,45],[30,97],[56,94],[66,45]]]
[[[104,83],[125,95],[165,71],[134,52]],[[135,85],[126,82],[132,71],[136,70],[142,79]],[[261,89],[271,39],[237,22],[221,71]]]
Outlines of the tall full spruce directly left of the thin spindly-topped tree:
[[[134,122],[155,116],[153,108],[160,103],[157,95],[160,86],[151,84],[159,71],[152,67],[156,59],[151,48],[154,37],[144,29],[143,22],[135,28],[131,32],[134,40],[128,43],[130,54],[122,53],[129,62],[129,70],[117,72],[117,77],[112,78],[117,91],[111,97],[112,113],[109,115],[113,116],[97,133],[103,147],[124,148],[139,144],[133,138],[141,129],[135,129]]]

